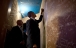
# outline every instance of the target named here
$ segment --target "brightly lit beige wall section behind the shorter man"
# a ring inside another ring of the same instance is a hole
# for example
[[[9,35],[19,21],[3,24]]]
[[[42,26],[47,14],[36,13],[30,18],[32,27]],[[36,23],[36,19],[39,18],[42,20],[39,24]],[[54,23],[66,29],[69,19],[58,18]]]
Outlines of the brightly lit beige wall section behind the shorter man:
[[[8,26],[7,28],[10,30],[13,26],[16,26],[16,21],[21,19],[21,14],[19,12],[18,2],[17,0],[11,0],[7,13]]]

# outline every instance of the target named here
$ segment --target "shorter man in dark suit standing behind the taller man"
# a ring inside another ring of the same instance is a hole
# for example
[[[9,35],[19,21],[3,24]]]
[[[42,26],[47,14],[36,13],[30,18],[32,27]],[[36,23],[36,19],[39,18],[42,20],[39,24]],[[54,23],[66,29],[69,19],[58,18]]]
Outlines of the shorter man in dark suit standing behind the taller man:
[[[22,20],[17,20],[17,26],[11,30],[11,48],[25,48],[26,34],[23,32]]]

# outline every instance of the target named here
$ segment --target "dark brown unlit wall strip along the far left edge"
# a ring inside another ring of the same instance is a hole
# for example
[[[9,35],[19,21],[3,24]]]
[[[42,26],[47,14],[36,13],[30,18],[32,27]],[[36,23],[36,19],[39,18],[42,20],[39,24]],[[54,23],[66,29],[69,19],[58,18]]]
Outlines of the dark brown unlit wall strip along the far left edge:
[[[7,30],[7,9],[10,0],[0,0],[0,48],[4,46],[4,39]]]

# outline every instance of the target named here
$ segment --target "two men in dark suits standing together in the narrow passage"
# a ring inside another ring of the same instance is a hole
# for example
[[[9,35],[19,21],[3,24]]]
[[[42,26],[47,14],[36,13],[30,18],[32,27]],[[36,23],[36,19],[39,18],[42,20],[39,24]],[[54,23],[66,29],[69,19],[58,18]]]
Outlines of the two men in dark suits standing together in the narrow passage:
[[[39,22],[43,18],[44,9],[41,9],[39,20],[36,20],[36,14],[33,11],[28,12],[26,23],[17,20],[17,26],[11,29],[10,48],[40,48],[40,29]]]

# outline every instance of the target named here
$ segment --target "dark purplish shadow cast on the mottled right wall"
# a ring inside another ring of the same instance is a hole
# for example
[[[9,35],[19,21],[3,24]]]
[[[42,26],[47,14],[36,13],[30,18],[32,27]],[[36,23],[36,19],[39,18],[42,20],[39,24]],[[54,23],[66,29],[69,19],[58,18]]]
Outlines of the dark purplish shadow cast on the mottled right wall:
[[[60,34],[56,48],[76,48],[76,9],[58,18]]]

